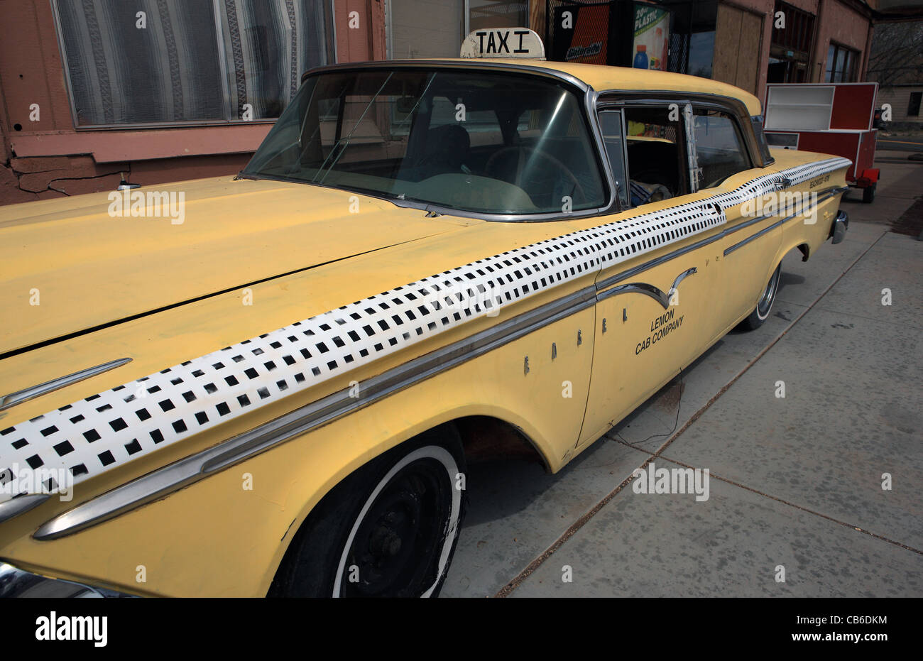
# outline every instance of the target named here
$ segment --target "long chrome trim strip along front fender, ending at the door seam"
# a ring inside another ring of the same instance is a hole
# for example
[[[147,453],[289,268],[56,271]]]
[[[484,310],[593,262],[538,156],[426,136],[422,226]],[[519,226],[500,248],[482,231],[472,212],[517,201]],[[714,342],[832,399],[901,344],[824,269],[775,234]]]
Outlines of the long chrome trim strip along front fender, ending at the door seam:
[[[409,388],[595,304],[595,288],[589,286],[545,306],[524,312],[494,328],[482,330],[470,338],[414,358],[366,380],[362,388],[363,395],[359,398],[351,397],[350,389],[335,392],[232,439],[222,441],[213,448],[197,452],[106,491],[43,523],[32,536],[44,541],[71,535],[152,500],[161,499],[211,473],[270,450],[286,440],[326,425],[343,415],[378,402],[390,394]]]

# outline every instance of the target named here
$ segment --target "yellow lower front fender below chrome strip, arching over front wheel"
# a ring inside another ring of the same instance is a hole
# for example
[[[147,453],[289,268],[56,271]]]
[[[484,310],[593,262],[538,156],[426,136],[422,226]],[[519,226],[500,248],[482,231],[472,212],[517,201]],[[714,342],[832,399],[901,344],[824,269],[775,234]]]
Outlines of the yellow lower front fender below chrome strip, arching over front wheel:
[[[519,427],[557,470],[580,429],[593,314],[591,307],[560,319],[75,534],[38,541],[30,525],[0,548],[0,558],[139,595],[266,595],[294,533],[319,500],[362,464],[426,429],[489,415]],[[579,329],[585,333],[580,344],[574,341]],[[547,351],[552,341],[559,347],[554,360]],[[523,355],[531,356],[528,373]],[[565,379],[572,382],[570,397],[562,397]]]

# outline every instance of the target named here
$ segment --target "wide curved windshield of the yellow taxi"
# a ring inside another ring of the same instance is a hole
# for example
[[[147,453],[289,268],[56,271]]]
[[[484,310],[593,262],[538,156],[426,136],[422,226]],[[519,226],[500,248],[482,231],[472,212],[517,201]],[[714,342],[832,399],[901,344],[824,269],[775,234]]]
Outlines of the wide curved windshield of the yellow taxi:
[[[311,76],[242,174],[470,212],[606,201],[577,93],[550,78],[458,69]]]

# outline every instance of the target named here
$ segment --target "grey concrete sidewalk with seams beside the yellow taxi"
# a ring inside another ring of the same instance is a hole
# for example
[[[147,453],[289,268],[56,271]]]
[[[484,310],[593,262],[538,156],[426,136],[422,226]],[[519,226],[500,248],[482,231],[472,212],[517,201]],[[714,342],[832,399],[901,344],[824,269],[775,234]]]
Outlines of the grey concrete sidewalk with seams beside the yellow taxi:
[[[557,475],[473,466],[442,595],[923,595],[923,243],[869,222],[910,206],[923,164],[881,167],[873,204],[843,204],[844,243],[785,258],[760,330]],[[652,462],[709,469],[709,499],[635,493]]]

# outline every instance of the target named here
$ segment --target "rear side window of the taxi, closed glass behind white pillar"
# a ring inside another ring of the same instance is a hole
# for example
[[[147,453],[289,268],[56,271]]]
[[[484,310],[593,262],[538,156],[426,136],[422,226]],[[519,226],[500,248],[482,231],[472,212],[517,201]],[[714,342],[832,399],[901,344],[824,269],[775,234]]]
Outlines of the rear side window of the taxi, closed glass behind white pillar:
[[[749,170],[749,156],[730,115],[714,110],[693,111],[700,188],[718,186],[731,174]]]

